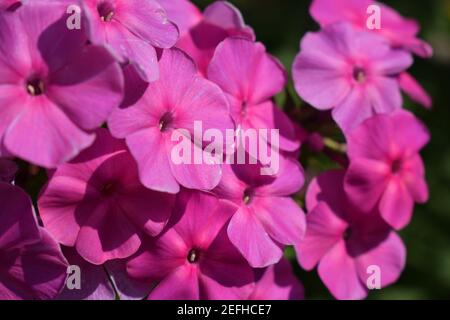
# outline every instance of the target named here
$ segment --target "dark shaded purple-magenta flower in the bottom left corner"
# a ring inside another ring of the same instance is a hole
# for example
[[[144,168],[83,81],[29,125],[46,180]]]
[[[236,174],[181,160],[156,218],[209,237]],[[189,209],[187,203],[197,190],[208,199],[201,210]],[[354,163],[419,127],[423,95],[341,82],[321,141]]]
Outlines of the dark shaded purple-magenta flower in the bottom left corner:
[[[24,191],[0,182],[0,203],[0,300],[53,299],[66,278],[59,246]]]

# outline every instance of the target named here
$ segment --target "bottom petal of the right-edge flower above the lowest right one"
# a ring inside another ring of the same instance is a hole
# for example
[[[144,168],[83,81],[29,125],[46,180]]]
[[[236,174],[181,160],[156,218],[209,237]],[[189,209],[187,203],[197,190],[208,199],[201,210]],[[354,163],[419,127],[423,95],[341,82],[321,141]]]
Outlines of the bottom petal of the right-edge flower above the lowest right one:
[[[381,216],[393,228],[403,229],[411,220],[413,207],[414,202],[406,186],[393,177],[381,197]]]

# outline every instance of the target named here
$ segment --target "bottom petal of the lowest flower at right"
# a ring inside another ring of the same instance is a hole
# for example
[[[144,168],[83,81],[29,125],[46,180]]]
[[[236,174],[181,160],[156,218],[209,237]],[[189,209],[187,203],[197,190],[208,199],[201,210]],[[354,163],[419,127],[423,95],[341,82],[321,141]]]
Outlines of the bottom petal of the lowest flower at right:
[[[363,299],[367,296],[368,289],[359,279],[356,262],[342,240],[320,261],[319,276],[337,299]]]

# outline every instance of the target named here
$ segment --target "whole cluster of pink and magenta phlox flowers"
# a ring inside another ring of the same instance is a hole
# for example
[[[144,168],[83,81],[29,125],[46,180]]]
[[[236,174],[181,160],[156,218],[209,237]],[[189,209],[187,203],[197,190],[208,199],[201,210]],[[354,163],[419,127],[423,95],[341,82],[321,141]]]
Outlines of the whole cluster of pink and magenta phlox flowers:
[[[0,0],[0,298],[303,299],[289,246],[337,299],[365,298],[373,267],[381,288],[397,281],[397,232],[428,200],[429,134],[402,92],[431,107],[408,68],[432,49],[379,3],[367,29],[372,4],[314,0],[320,30],[298,35],[296,92],[344,144],[283,111],[288,72],[228,2]],[[250,150],[248,164],[174,163],[173,133],[194,121],[279,130],[278,172]],[[303,145],[339,168],[305,177]],[[16,177],[39,168],[34,205]]]

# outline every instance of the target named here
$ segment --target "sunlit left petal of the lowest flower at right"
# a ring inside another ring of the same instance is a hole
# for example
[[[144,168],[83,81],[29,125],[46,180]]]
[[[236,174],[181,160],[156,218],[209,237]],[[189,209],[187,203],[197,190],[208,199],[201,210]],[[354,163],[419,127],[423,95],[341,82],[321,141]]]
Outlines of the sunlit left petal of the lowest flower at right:
[[[306,270],[316,264],[342,239],[348,224],[325,203],[306,215],[306,234],[295,246],[297,260]]]

